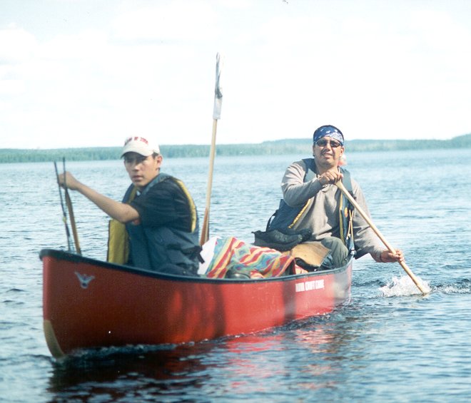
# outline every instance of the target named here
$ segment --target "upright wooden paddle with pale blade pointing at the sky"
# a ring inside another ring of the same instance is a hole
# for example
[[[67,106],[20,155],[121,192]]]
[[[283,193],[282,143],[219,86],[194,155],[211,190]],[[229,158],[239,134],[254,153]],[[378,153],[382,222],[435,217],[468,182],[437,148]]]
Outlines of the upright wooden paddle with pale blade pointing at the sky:
[[[221,66],[220,66],[221,63]],[[216,87],[214,89],[214,110],[213,110],[213,136],[211,138],[211,151],[209,157],[208,187],[206,189],[206,208],[204,211],[203,227],[201,228],[200,245],[206,243],[209,238],[209,208],[211,203],[211,188],[213,186],[214,156],[216,154],[216,130],[218,128],[218,119],[221,118],[221,104],[223,102],[223,93],[221,92],[221,70],[223,63],[221,55],[216,55]]]

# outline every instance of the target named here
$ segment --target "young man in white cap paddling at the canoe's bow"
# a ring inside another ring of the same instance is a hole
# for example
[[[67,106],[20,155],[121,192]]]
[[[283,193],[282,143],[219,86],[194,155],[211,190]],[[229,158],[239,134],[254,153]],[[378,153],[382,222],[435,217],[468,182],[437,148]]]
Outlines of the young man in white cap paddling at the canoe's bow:
[[[160,149],[146,138],[126,139],[121,157],[133,183],[121,203],[65,173],[69,189],[77,190],[113,218],[108,261],[158,272],[196,275],[201,251],[198,216],[185,185],[161,173]],[[64,174],[59,175],[59,183],[64,185]],[[120,231],[119,223],[126,225],[126,231]],[[121,245],[119,250],[116,245]]]

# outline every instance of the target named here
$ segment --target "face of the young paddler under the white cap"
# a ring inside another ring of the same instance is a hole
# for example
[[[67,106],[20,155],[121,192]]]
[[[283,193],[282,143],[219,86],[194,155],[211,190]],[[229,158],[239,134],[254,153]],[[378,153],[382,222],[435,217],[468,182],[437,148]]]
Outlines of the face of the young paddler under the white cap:
[[[162,155],[144,157],[138,153],[126,153],[124,166],[134,185],[142,190],[158,175],[161,168]]]

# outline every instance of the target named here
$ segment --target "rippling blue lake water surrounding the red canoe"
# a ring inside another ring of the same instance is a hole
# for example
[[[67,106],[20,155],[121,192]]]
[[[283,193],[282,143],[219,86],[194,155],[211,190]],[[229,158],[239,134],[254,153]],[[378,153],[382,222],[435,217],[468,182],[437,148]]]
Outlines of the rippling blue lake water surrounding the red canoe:
[[[211,235],[253,241],[285,167],[306,155],[216,158]],[[61,168],[61,164],[59,164]],[[121,200],[121,161],[67,163]],[[0,402],[468,402],[471,399],[471,150],[348,154],[400,265],[355,262],[352,299],[331,315],[256,335],[128,347],[55,362],[42,331],[39,250],[66,248],[52,163],[0,165]],[[166,159],[201,222],[208,160]],[[71,193],[83,255],[106,256],[108,219]],[[256,309],[256,307],[254,307]]]

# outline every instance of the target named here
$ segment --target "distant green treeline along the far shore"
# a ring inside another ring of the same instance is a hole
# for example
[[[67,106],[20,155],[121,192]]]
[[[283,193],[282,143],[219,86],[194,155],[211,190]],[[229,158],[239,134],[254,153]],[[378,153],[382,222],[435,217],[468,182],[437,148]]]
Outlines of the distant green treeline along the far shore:
[[[220,144],[218,155],[283,155],[310,153],[310,139],[287,139],[264,141],[258,144]],[[471,133],[451,140],[352,140],[345,142],[348,153],[358,151],[427,150],[437,148],[471,148]],[[78,160],[116,160],[121,147],[54,148],[31,150],[0,148],[0,163],[44,162],[66,158]],[[186,144],[182,146],[161,146],[166,158],[208,157],[210,146]]]

